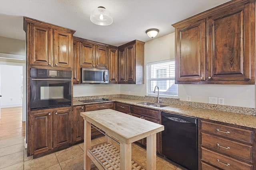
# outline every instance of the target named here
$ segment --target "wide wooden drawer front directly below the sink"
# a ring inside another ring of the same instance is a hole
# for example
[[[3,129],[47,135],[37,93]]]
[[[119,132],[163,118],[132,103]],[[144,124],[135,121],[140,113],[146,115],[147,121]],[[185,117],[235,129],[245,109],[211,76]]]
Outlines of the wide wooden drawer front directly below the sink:
[[[139,115],[143,115],[146,117],[152,117],[156,119],[160,119],[160,114],[158,110],[146,109],[137,106],[131,106],[131,113],[136,113]]]

